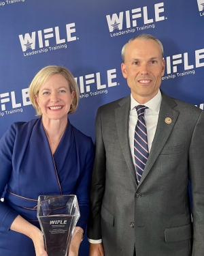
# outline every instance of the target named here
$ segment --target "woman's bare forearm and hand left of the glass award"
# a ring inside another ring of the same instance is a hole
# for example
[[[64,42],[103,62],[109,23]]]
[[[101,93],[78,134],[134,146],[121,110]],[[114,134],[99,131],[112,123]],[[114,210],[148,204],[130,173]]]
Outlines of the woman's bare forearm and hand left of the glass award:
[[[13,221],[10,229],[19,233],[23,233],[33,240],[36,256],[48,256],[44,247],[44,238],[41,231],[37,227],[18,215]]]

